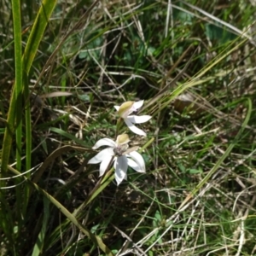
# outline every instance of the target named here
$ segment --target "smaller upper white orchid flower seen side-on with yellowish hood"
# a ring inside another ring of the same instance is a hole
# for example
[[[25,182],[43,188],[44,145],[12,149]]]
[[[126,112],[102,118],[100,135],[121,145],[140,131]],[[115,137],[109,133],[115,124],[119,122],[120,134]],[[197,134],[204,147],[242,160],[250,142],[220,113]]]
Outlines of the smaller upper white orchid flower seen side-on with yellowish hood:
[[[137,128],[137,126],[133,124],[142,124],[151,119],[150,115],[130,115],[132,112],[136,112],[138,108],[142,108],[144,101],[139,102],[125,102],[121,106],[114,106],[114,108],[118,111],[119,116],[124,119],[125,124],[128,128],[134,133],[142,136],[146,136],[146,133]]]

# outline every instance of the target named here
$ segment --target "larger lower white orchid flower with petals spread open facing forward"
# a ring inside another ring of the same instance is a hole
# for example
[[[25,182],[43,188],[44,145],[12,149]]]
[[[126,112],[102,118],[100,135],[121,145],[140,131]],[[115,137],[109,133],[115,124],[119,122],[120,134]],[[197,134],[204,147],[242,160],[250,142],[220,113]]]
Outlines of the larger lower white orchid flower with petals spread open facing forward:
[[[102,149],[102,151],[91,158],[88,163],[101,163],[101,177],[104,172],[106,172],[108,166],[112,164],[112,160],[115,169],[115,180],[118,185],[123,179],[127,179],[128,166],[131,166],[131,168],[137,172],[146,172],[143,156],[136,151],[138,147],[128,148],[129,141],[127,134],[119,135],[116,142],[109,138],[100,139],[92,148],[96,149],[102,146],[108,146],[108,148]]]

